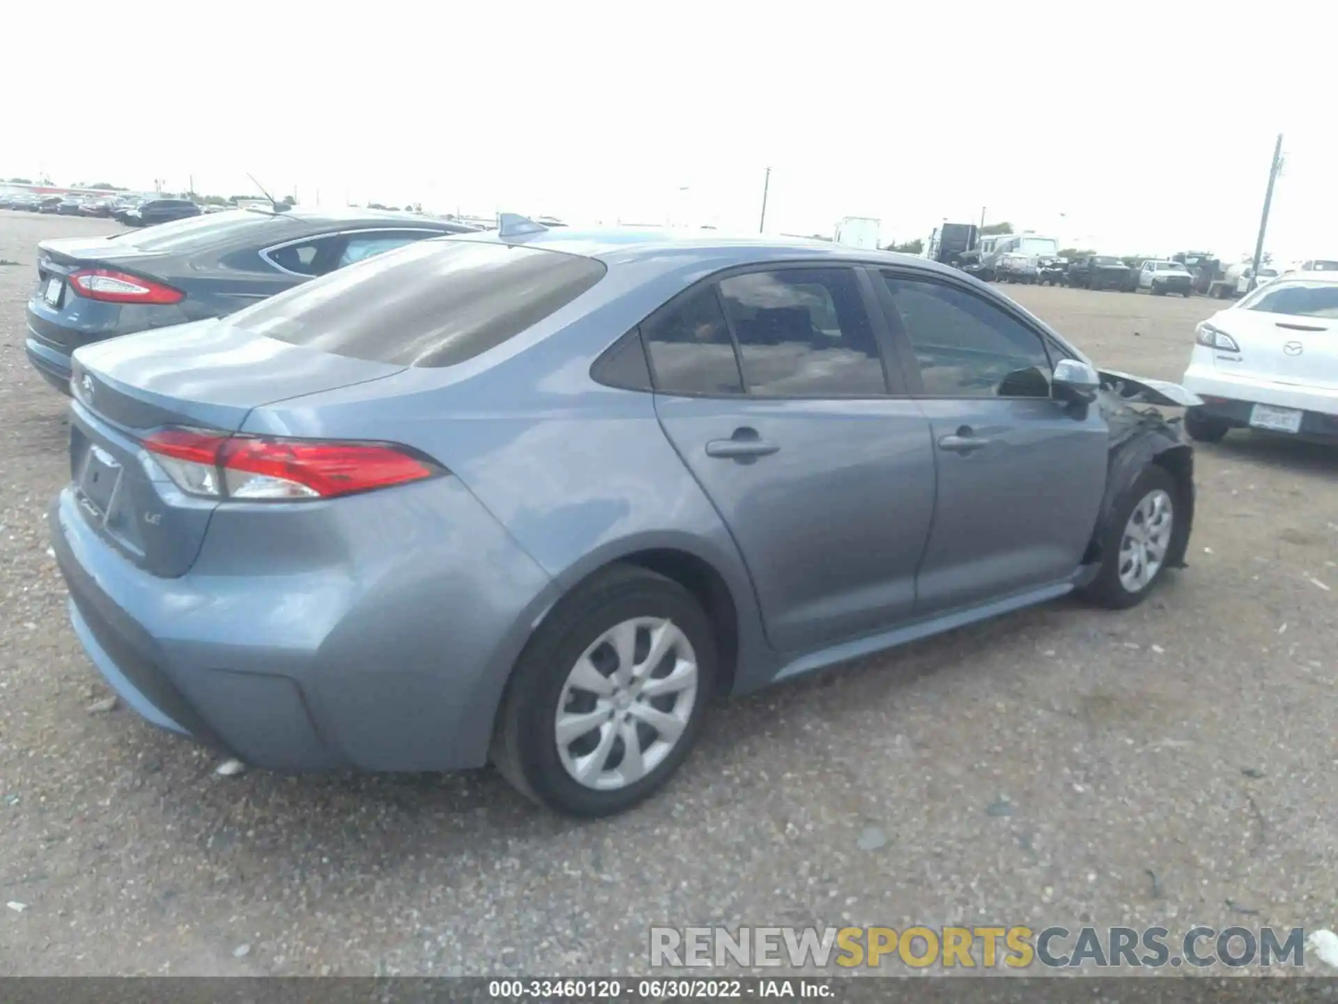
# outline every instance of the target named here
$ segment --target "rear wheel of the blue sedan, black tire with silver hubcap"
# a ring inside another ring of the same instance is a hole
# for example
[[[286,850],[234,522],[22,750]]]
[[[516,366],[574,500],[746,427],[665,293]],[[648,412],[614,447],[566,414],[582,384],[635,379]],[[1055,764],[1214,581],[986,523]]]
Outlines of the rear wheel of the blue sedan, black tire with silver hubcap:
[[[700,604],[673,580],[614,565],[562,600],[526,645],[492,762],[558,813],[622,813],[688,756],[714,687],[716,637]]]

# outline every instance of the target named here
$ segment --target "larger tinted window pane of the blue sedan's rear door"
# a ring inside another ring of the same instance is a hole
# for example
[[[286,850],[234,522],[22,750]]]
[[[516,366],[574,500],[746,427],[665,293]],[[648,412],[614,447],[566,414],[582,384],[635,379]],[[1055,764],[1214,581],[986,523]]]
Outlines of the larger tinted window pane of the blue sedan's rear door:
[[[720,284],[748,392],[765,398],[887,394],[850,269],[787,269]]]

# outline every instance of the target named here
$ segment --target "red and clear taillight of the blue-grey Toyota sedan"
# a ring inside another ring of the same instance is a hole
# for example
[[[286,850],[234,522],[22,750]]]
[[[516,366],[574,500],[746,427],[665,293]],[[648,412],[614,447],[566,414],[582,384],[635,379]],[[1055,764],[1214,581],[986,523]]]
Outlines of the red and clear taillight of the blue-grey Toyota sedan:
[[[294,502],[337,498],[446,471],[392,443],[227,436],[165,428],[145,448],[182,491],[207,498]]]

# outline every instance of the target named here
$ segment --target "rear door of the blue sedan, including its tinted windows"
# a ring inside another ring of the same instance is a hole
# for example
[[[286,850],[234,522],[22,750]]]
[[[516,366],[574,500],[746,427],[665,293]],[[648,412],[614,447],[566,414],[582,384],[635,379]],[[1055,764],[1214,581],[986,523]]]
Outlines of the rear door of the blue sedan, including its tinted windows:
[[[733,273],[642,336],[661,424],[733,534],[771,644],[808,651],[909,617],[934,455],[890,382],[868,276]]]

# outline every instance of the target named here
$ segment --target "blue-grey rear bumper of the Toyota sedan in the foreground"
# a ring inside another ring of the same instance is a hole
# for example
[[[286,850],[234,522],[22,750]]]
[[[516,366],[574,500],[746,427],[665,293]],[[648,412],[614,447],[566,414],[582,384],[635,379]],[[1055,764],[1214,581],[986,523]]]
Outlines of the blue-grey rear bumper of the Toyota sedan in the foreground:
[[[306,534],[273,534],[286,549],[254,511],[215,511],[191,572],[159,578],[67,487],[50,525],[75,632],[147,722],[257,767],[482,766],[555,586],[452,478],[391,491],[400,505],[369,493],[304,513]]]

